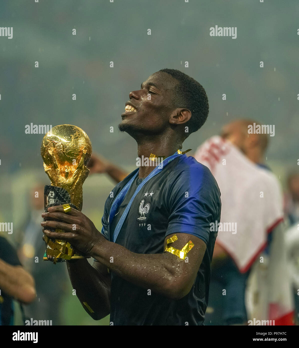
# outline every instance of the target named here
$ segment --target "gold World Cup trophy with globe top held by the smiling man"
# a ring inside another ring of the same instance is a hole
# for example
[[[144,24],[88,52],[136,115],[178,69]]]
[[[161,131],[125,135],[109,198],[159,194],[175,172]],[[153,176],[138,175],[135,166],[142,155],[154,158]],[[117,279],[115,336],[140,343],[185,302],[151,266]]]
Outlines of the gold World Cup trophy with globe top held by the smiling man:
[[[91,151],[88,135],[76,126],[55,126],[43,137],[41,156],[45,172],[51,181],[51,185],[45,186],[45,212],[50,206],[64,204],[69,204],[81,211],[82,186],[89,173],[86,166],[90,160]],[[65,232],[64,230],[48,229]],[[45,242],[47,249],[44,260],[48,260],[47,255],[52,256],[51,261],[54,263],[89,258],[89,256],[80,255],[70,243],[63,240],[49,238],[45,235]]]

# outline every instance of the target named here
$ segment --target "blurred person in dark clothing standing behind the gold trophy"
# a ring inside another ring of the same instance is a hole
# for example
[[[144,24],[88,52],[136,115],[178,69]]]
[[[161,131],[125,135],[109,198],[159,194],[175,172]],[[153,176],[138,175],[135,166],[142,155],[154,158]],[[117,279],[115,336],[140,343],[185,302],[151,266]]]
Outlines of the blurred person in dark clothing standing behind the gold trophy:
[[[37,289],[37,298],[25,306],[24,311],[27,319],[52,320],[52,325],[63,325],[60,311],[67,271],[63,263],[54,266],[52,262],[43,260],[46,249],[40,230],[40,214],[44,211],[43,191],[41,184],[30,190],[31,211],[18,251],[24,267],[34,277]]]

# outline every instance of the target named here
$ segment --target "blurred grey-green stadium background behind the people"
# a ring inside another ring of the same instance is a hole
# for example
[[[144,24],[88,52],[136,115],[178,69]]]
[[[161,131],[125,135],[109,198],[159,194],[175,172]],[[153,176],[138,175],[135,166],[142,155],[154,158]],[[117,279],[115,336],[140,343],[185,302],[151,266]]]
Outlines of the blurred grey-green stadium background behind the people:
[[[26,134],[26,125],[79,126],[94,153],[132,171],[136,143],[119,132],[120,115],[129,92],[163,68],[193,77],[209,98],[208,120],[183,150],[234,119],[275,125],[266,162],[287,191],[298,170],[298,15],[297,0],[2,0],[0,26],[13,27],[13,38],[0,37],[0,221],[13,222],[13,234],[1,235],[19,250],[32,221],[41,221],[44,134]],[[211,37],[215,25],[237,27],[237,38]],[[99,230],[114,185],[105,174],[83,185],[82,212]],[[47,267],[59,269],[59,323],[109,324],[93,321],[72,295],[65,263]]]

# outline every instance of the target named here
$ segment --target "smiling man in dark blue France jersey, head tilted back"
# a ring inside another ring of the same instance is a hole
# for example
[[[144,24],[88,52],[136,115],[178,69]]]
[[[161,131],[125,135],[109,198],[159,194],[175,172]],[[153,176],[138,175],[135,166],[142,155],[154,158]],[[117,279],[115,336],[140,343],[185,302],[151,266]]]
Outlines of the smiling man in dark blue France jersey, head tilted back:
[[[101,233],[84,214],[64,213],[62,206],[42,214],[43,231],[94,258],[93,266],[67,261],[92,318],[110,314],[111,325],[202,325],[220,192],[209,169],[179,149],[207,119],[208,98],[197,81],[173,69],[152,74],[129,98],[119,129],[136,140],[138,157],[163,157],[163,166],[140,166],[115,186]]]

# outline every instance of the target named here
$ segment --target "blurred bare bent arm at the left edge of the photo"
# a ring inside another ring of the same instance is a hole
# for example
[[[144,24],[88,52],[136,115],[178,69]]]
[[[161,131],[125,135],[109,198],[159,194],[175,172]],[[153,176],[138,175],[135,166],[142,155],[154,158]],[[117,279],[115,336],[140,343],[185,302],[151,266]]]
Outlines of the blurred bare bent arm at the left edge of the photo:
[[[33,277],[22,266],[11,266],[1,259],[0,289],[24,303],[30,303],[36,297]]]

